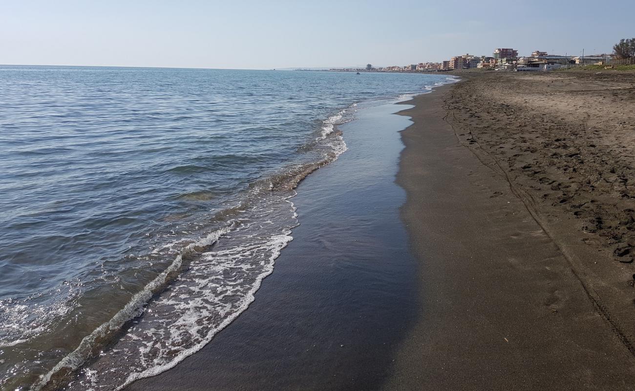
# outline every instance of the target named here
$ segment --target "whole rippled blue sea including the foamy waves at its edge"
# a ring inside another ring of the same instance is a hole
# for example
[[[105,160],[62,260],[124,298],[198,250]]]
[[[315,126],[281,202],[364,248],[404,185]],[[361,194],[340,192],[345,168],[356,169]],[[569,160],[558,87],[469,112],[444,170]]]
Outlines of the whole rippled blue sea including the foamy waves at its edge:
[[[0,66],[0,388],[112,390],[253,301],[356,102],[444,75]]]

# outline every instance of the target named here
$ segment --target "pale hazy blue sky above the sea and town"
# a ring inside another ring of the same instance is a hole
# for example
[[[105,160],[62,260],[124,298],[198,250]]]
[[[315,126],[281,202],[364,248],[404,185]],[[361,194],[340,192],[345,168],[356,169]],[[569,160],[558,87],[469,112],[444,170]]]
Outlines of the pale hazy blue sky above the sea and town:
[[[635,37],[635,1],[0,0],[0,64],[273,69],[581,55]]]

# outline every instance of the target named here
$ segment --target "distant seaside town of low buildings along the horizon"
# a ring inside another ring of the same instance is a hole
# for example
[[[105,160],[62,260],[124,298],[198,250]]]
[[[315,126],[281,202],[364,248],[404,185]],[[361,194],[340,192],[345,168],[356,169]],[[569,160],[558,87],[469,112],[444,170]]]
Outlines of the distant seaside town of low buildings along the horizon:
[[[596,54],[587,56],[552,55],[546,51],[536,50],[531,55],[519,57],[518,50],[510,48],[495,49],[491,56],[465,54],[451,57],[443,62],[420,62],[404,66],[373,67],[368,64],[364,68],[331,68],[335,72],[444,72],[455,69],[496,69],[508,71],[551,71],[561,67],[582,65],[609,65],[621,62],[613,54]]]

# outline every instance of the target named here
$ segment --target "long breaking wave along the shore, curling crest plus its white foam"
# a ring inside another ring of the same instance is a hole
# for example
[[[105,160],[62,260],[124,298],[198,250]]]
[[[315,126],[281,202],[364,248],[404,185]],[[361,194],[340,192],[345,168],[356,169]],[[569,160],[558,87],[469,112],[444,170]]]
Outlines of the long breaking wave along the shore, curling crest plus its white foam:
[[[203,240],[171,242],[153,250],[178,254],[30,389],[119,390],[170,369],[211,341],[253,302],[275,259],[293,239],[291,230],[298,222],[290,198],[295,188],[346,151],[342,132],[335,130],[344,113],[324,120],[333,130],[310,143],[317,159],[253,182],[243,200],[213,213],[211,220],[224,226]],[[131,372],[113,372],[112,367],[128,367]]]

